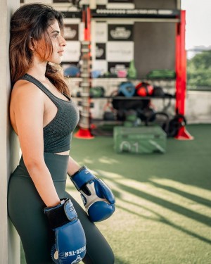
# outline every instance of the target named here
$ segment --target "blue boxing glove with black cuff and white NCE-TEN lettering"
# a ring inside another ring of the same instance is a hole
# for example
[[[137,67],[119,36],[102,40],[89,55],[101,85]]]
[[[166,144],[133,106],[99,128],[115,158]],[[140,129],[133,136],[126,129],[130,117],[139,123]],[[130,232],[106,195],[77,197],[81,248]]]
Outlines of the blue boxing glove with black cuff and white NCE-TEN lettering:
[[[54,263],[79,263],[86,254],[86,237],[72,201],[63,199],[58,206],[44,208],[44,213],[55,232],[56,244],[51,249]]]

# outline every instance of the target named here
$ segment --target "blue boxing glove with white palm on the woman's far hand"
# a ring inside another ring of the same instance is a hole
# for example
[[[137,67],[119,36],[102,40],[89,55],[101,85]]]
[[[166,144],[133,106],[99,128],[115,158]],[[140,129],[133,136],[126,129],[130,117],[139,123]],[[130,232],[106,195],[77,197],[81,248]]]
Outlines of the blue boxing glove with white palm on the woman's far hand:
[[[82,196],[85,209],[92,222],[110,218],[115,211],[115,196],[102,180],[91,174],[85,166],[72,177],[73,184]]]

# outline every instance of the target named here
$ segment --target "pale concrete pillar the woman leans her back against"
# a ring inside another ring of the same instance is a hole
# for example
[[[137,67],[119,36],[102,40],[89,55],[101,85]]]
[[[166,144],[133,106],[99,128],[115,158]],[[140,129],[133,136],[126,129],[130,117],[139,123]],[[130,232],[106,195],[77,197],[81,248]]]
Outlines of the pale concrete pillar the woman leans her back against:
[[[8,61],[10,18],[19,5],[19,0],[0,0],[0,264],[20,263],[20,239],[7,215],[8,179],[19,159],[18,140],[8,118],[11,92]]]

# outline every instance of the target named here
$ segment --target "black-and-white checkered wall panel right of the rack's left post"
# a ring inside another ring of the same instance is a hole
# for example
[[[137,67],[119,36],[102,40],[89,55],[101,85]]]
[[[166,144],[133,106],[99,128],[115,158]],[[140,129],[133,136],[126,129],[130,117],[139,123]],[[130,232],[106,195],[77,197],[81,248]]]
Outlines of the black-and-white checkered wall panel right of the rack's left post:
[[[129,62],[134,59],[133,30],[133,23],[96,23],[93,70],[98,70],[100,64],[104,71],[111,73],[112,70],[113,74],[116,74],[120,68],[125,70]]]

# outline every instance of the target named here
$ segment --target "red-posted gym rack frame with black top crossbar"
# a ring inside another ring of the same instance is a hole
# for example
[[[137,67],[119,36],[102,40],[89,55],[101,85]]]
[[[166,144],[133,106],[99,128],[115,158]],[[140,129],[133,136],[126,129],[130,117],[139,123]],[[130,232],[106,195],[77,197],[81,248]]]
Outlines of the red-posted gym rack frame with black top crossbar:
[[[95,1],[94,1],[95,2]],[[171,10],[171,9],[105,9],[95,8],[92,3],[92,8],[89,5],[84,5],[82,12],[64,12],[67,18],[82,18],[84,22],[84,40],[91,41],[91,19],[92,20],[125,20],[132,19],[134,22],[170,22],[176,23],[176,103],[175,113],[177,115],[185,114],[185,98],[186,98],[186,50],[185,50],[185,24],[186,11]],[[89,56],[91,59],[91,56]],[[82,97],[87,94],[82,94]],[[90,100],[86,100],[90,104]],[[84,106],[89,108],[89,106]],[[79,132],[77,137],[91,138],[90,130],[90,115],[86,111],[86,115],[82,112],[82,122],[79,123]],[[85,121],[86,120],[86,121]],[[86,123],[86,125],[84,125]],[[191,134],[186,131],[185,126],[181,126],[176,139],[193,139]]]

